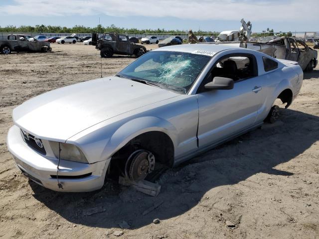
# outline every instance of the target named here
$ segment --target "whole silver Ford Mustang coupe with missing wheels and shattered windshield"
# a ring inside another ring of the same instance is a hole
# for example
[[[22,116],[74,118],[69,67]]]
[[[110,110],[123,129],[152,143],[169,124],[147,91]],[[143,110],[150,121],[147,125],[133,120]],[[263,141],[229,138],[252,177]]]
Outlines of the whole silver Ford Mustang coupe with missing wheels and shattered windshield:
[[[298,95],[296,62],[231,45],[183,44],[141,56],[116,76],[32,98],[13,110],[8,150],[34,182],[93,191],[105,179],[154,178],[278,118]]]

